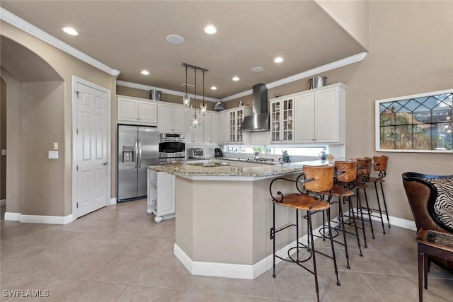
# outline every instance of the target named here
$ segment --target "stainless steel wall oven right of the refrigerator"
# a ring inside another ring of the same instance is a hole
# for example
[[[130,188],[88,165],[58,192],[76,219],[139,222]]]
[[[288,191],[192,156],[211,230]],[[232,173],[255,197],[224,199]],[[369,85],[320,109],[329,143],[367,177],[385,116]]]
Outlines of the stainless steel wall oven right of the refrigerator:
[[[159,133],[159,163],[185,161],[183,133]]]

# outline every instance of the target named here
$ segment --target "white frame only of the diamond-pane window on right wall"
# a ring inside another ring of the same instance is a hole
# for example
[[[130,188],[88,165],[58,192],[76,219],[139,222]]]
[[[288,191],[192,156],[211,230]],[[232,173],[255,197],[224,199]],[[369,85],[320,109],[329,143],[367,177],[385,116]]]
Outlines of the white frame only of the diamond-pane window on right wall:
[[[389,102],[398,102],[398,101],[404,101],[408,100],[411,98],[423,98],[423,97],[429,97],[433,95],[442,95],[442,94],[449,94],[453,93],[453,88],[451,89],[446,89],[442,91],[432,91],[428,93],[418,93],[418,94],[413,94],[413,95],[403,95],[403,96],[398,96],[395,98],[384,98],[381,100],[375,100],[374,103],[374,137],[375,137],[375,149],[378,152],[409,152],[409,153],[453,153],[453,150],[433,150],[433,149],[382,149],[381,148],[381,112],[380,112],[380,106],[381,103],[389,103]],[[452,120],[453,122],[453,120]],[[411,123],[413,125],[414,123]],[[423,124],[436,124],[433,122],[429,123],[423,123]]]

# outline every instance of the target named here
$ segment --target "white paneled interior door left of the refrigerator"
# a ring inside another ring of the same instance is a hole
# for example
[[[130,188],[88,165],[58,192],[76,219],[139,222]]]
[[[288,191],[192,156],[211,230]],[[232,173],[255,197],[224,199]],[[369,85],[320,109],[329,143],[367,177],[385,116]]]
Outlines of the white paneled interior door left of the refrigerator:
[[[76,217],[107,205],[108,92],[76,81]]]

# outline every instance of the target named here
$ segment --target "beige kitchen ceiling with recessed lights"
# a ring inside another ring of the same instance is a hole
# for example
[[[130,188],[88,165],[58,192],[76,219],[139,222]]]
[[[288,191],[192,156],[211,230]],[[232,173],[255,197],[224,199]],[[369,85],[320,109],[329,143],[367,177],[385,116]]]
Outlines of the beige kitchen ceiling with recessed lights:
[[[184,91],[181,63],[209,69],[205,95],[218,99],[365,51],[314,1],[1,0],[0,6],[119,70],[121,81]],[[207,35],[208,24],[217,33]],[[79,35],[67,35],[64,26]],[[166,41],[171,34],[185,42],[171,45]],[[2,53],[8,45],[2,42]],[[275,63],[277,56],[284,61]],[[256,66],[264,71],[252,72]],[[140,74],[142,69],[150,75]],[[198,74],[197,94],[201,78]],[[193,70],[188,83],[194,83]]]

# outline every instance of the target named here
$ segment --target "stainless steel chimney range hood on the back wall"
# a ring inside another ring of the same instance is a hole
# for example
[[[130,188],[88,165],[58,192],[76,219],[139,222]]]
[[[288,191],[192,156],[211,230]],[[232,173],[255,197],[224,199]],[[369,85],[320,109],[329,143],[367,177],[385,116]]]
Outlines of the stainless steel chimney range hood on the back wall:
[[[253,85],[253,115],[244,117],[241,125],[243,132],[269,131],[268,88],[265,84]]]

